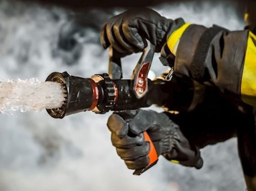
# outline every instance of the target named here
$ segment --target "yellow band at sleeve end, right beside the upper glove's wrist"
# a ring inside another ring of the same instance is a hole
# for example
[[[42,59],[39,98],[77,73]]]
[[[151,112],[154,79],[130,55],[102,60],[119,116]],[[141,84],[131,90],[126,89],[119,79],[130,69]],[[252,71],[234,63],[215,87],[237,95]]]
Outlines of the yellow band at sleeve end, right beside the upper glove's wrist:
[[[190,23],[185,23],[180,28],[175,30],[167,40],[167,46],[172,54],[176,55],[177,47],[180,42],[180,38]]]

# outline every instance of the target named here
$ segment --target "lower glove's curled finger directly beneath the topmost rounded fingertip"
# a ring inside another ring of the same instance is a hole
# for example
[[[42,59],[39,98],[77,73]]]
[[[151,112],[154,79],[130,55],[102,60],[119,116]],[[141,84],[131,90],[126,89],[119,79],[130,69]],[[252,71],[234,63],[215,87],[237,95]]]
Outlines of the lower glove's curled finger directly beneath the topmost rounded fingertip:
[[[112,133],[111,134],[111,142],[112,142],[113,146],[115,146],[117,148],[128,149],[128,148],[132,148],[137,145],[143,145],[144,134],[141,133],[136,137],[130,137],[129,135],[126,135],[125,137],[120,138],[120,137],[118,137],[117,134]]]

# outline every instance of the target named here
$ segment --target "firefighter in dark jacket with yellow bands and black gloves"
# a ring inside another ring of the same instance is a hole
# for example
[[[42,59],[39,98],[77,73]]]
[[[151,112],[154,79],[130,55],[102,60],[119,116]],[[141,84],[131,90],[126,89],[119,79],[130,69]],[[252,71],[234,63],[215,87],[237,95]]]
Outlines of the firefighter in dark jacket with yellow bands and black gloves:
[[[214,100],[204,92],[203,104],[196,103],[192,112],[177,115],[147,110],[113,113],[107,123],[111,141],[129,169],[142,169],[149,162],[144,131],[158,156],[196,169],[203,165],[200,148],[237,136],[248,190],[256,190],[255,5],[251,2],[252,14],[245,14],[247,26],[241,31],[166,19],[148,8],[128,10],[107,21],[100,36],[104,48],[111,45],[126,56],[141,52],[148,39],[174,75],[216,87],[221,95]]]

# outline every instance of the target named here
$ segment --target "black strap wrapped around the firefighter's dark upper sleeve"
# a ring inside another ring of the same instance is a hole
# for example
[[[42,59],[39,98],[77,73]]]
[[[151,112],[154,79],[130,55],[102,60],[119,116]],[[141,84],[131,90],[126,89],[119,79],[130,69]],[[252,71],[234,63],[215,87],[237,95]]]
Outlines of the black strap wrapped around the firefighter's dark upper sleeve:
[[[207,56],[207,52],[209,50],[213,38],[221,30],[227,31],[227,29],[223,29],[222,27],[213,25],[213,27],[206,29],[203,35],[200,37],[191,63],[191,74],[194,79],[200,81],[204,77],[204,63]]]

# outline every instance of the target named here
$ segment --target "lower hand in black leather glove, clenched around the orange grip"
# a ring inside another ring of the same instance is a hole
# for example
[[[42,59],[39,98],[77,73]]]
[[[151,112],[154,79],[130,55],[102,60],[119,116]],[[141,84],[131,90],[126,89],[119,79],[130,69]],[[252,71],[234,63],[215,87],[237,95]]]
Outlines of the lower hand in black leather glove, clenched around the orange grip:
[[[203,160],[200,151],[189,144],[179,127],[165,113],[151,110],[115,112],[108,120],[111,141],[118,155],[129,169],[143,169],[149,163],[149,143],[144,141],[144,131],[151,138],[157,155],[167,160],[200,169]]]

